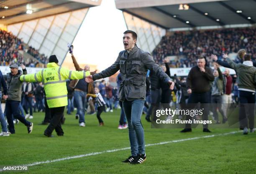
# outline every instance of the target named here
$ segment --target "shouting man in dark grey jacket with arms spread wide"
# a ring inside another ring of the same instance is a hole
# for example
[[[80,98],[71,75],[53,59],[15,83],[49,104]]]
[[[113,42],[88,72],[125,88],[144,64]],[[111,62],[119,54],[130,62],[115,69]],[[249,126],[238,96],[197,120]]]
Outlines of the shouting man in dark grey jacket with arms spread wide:
[[[136,41],[137,34],[134,31],[125,31],[123,36],[125,50],[119,53],[115,63],[102,72],[86,78],[87,82],[93,82],[97,79],[109,77],[118,72],[119,69],[123,73],[119,100],[123,102],[123,109],[128,120],[131,144],[131,156],[123,162],[130,162],[131,164],[141,164],[146,159],[141,114],[146,99],[146,74],[148,69],[155,72],[166,84],[169,84],[171,90],[174,87],[174,82],[155,63],[149,53],[136,46]]]

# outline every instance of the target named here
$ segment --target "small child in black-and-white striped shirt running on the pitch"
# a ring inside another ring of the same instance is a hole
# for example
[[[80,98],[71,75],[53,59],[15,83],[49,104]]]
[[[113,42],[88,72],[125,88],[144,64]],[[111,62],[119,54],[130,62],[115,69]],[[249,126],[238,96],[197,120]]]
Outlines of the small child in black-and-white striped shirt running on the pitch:
[[[103,100],[102,95],[100,94],[99,88],[95,87],[94,88],[95,94],[87,94],[86,97],[91,96],[96,98],[97,102],[97,119],[99,120],[100,126],[103,126],[103,120],[100,118],[100,114],[105,110],[105,101]]]

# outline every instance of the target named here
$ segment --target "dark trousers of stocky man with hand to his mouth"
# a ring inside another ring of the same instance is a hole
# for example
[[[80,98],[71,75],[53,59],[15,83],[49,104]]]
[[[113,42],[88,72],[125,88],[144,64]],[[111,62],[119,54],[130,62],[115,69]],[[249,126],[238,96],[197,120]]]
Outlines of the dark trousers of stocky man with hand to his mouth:
[[[210,92],[203,92],[203,93],[192,93],[189,96],[187,107],[188,109],[192,110],[195,109],[196,105],[200,102],[200,109],[203,110],[202,120],[208,120],[209,114],[209,103],[211,102]],[[187,120],[191,120],[190,116],[186,116]],[[185,128],[191,128],[191,124],[187,123]],[[208,128],[208,124],[203,125],[203,128]]]

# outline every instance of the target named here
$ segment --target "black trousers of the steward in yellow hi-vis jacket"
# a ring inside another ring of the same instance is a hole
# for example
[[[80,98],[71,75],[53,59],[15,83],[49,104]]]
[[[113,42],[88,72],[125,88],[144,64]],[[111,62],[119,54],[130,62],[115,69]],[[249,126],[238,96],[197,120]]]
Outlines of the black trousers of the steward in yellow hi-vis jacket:
[[[64,115],[64,109],[65,106],[50,108],[51,122],[44,131],[46,135],[51,135],[54,129],[58,136],[62,136],[64,134],[61,128],[61,118]]]

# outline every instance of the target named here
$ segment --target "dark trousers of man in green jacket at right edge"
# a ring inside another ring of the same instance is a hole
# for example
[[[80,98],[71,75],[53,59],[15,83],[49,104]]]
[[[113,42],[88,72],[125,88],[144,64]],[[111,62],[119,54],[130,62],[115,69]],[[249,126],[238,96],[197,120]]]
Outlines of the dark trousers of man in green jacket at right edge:
[[[240,91],[239,90],[239,122],[240,128],[254,128],[254,105],[255,105],[255,92]],[[246,112],[247,111],[247,112]],[[246,117],[247,113],[247,117]]]

